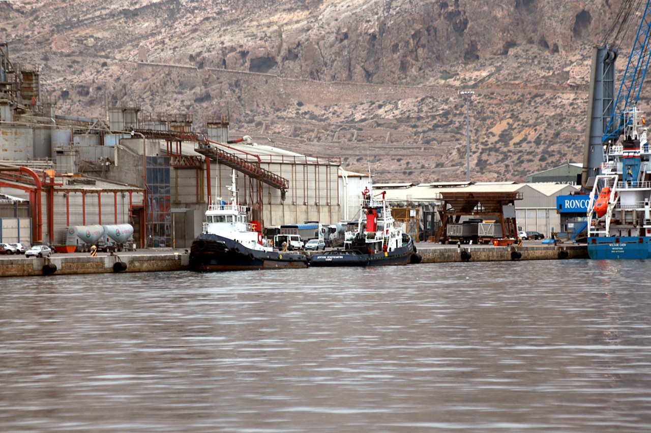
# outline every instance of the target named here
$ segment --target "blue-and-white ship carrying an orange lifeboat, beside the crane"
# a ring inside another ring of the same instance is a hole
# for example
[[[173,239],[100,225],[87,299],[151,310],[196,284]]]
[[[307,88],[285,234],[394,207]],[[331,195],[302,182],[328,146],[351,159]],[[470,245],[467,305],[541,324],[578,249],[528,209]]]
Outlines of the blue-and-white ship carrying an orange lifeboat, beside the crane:
[[[651,153],[646,121],[624,113],[624,140],[609,144],[588,204],[591,259],[651,258]]]

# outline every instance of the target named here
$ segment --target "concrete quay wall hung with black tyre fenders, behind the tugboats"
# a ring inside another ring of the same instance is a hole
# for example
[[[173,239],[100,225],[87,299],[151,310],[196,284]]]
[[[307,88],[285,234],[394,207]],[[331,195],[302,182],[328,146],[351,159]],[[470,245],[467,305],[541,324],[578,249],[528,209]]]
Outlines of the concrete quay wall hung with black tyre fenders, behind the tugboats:
[[[585,244],[540,244],[523,246],[416,244],[422,263],[473,261],[587,259]],[[314,254],[307,252],[306,254]],[[51,257],[25,258],[0,256],[0,276],[39,276],[71,274],[109,274],[119,272],[169,272],[187,270],[186,250],[139,250],[115,254],[53,254]]]

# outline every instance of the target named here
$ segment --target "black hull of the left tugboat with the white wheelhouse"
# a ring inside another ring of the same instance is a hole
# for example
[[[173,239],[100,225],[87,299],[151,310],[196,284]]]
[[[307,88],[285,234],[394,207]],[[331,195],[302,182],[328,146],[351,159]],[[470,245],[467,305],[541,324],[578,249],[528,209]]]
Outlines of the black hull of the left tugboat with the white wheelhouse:
[[[190,248],[189,267],[204,272],[307,268],[304,254],[252,250],[238,241],[202,233]]]

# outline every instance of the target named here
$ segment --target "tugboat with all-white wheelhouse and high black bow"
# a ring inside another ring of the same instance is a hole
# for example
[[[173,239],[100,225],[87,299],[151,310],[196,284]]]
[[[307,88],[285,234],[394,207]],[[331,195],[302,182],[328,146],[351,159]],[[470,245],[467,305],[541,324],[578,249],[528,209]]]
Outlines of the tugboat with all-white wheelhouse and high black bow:
[[[202,233],[190,247],[192,270],[221,271],[307,268],[305,254],[273,251],[260,231],[249,223],[247,207],[238,204],[235,170],[230,204],[218,198],[208,205]]]

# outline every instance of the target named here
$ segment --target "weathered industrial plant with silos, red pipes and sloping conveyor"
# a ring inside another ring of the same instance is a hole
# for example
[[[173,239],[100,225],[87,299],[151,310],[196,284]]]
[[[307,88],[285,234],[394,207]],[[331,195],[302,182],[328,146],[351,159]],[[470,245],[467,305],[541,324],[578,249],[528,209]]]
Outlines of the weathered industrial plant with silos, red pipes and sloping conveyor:
[[[106,119],[59,116],[38,68],[10,62],[0,45],[0,194],[29,203],[30,219],[0,240],[62,244],[75,226],[131,224],[139,248],[189,248],[208,204],[228,200],[232,170],[260,229],[340,219],[339,161],[231,140],[227,116],[209,116],[206,133],[193,122],[129,102]]]

